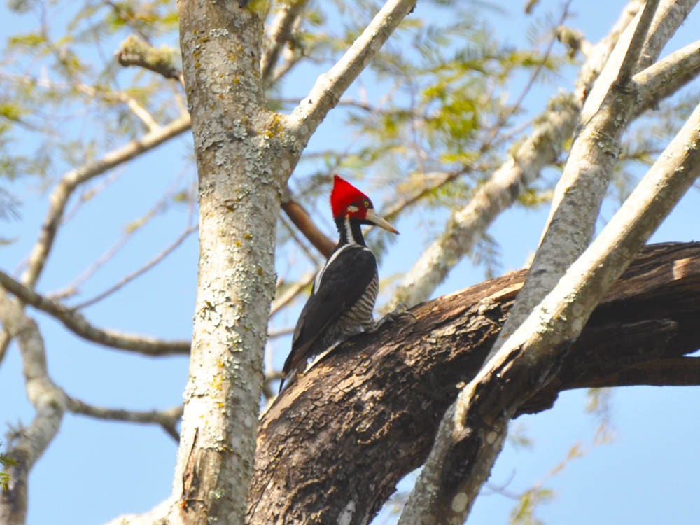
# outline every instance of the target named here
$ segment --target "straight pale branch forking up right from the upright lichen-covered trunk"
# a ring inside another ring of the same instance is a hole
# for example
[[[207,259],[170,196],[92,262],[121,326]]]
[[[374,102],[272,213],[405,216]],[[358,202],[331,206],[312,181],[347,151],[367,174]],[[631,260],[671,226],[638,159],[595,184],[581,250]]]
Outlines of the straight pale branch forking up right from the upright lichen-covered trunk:
[[[288,128],[302,147],[415,3],[416,0],[388,0],[345,55],[318,77],[307,97],[288,116]]]

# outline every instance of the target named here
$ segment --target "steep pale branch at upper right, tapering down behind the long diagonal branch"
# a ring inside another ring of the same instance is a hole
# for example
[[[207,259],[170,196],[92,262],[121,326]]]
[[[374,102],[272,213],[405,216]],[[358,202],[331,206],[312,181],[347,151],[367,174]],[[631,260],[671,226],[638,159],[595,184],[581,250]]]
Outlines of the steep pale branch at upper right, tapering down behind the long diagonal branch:
[[[696,0],[692,0],[693,3]],[[653,62],[671,38],[682,18],[665,18],[675,3],[664,0],[656,10],[647,35],[645,10],[622,34],[612,51],[601,76],[582,109],[583,128],[578,132],[561,179],[554,190],[552,209],[540,246],[531,265],[531,272],[511,316],[503,327],[503,335],[493,347],[496,353],[505,339],[518,328],[533,308],[554,288],[566,269],[583,253],[593,237],[598,211],[617,163],[619,140],[636,115],[638,95],[633,83],[615,83],[628,56],[630,42],[646,38],[640,67]],[[687,14],[687,13],[686,13]],[[640,20],[643,22],[640,25]],[[640,35],[640,32],[644,34]],[[636,52],[633,53],[636,55]],[[638,62],[636,59],[634,62]],[[625,77],[626,75],[622,75]],[[605,90],[602,94],[601,90]]]

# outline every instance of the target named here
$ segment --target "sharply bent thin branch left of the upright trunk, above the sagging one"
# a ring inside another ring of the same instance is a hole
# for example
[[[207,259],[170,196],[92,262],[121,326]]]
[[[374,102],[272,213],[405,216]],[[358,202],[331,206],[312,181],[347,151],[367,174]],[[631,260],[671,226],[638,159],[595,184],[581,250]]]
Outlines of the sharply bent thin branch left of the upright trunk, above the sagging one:
[[[66,173],[51,193],[51,205],[43,225],[41,225],[39,238],[29,254],[29,265],[22,274],[22,283],[25,283],[30,288],[34,288],[36,281],[38,281],[53,246],[66,203],[71,197],[73,190],[93,177],[132,160],[137,155],[160,146],[165,141],[177,137],[189,129],[190,116],[183,115],[159,130],[145,134],[141,139],[131,141],[120,148],[106,153],[99,160],[71,169],[70,172]]]

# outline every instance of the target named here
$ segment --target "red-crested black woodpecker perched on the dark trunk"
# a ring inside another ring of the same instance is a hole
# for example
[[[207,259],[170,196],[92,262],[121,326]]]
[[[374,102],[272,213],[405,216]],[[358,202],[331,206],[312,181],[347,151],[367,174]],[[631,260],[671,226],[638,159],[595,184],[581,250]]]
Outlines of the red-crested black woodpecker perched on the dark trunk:
[[[292,338],[292,350],[282,368],[284,382],[303,373],[309,359],[332,344],[374,327],[374,302],[379,290],[377,260],[367,248],[363,224],[398,231],[374,211],[372,201],[351,183],[333,176],[330,208],[340,239],[316,274]]]

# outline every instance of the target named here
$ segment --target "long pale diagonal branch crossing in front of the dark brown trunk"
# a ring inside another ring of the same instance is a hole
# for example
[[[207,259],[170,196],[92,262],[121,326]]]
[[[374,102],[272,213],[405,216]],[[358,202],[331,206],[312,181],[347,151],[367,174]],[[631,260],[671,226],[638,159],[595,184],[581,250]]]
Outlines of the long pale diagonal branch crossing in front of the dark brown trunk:
[[[700,105],[601,235],[458,394],[400,524],[464,522],[524,393],[553,379],[610,285],[699,175]]]

